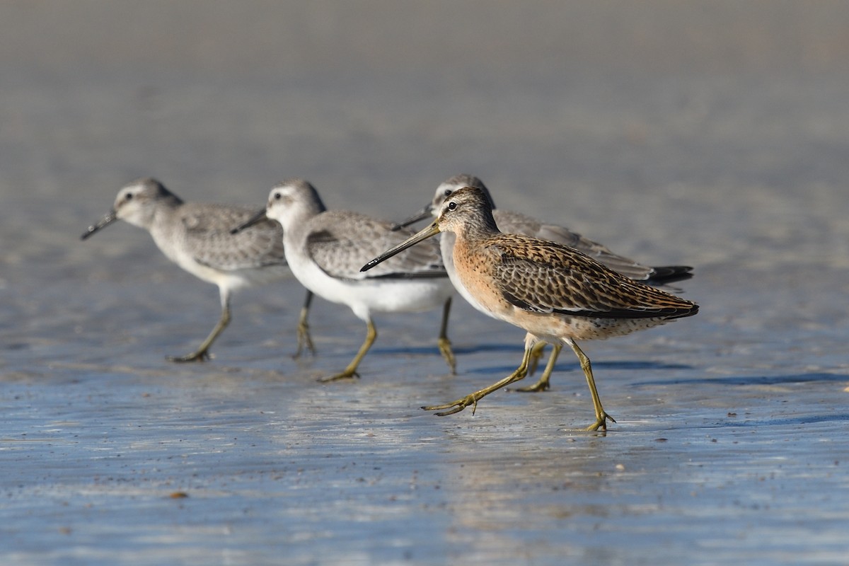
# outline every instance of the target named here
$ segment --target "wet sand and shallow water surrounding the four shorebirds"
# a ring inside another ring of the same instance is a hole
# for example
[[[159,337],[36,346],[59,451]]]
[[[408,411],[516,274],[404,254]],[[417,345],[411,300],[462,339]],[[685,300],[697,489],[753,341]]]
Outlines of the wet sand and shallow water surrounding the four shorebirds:
[[[3,8],[0,562],[846,563],[846,8],[487,5]],[[213,361],[168,363],[216,289],[136,228],[79,241],[143,175],[257,206],[302,176],[397,220],[462,171],[695,266],[698,316],[583,345],[606,435],[575,430],[567,351],[546,393],[421,411],[520,361],[459,299],[456,376],[431,312],[378,317],[363,377],[316,383],[365,328],[316,300],[293,360],[294,280],[237,295]]]

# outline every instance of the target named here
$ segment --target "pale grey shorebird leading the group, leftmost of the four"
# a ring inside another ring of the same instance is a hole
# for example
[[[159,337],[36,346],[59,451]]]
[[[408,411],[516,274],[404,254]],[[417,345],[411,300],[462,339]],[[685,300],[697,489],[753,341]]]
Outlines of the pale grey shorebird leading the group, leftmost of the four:
[[[147,230],[166,257],[195,277],[218,286],[221,317],[200,347],[169,361],[209,359],[212,343],[230,322],[230,297],[234,291],[284,277],[289,270],[283,249],[283,230],[277,222],[257,223],[238,235],[230,229],[254,213],[241,206],[183,202],[152,178],[138,179],[118,192],[112,210],[82,234],[86,239],[115,221],[127,221]],[[309,306],[307,294],[304,308]],[[307,328],[301,340],[311,347]]]

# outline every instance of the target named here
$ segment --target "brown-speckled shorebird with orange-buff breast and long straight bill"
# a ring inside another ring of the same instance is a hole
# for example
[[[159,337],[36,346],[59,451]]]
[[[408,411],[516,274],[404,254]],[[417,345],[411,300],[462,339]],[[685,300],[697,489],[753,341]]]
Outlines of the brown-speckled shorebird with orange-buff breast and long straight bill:
[[[456,237],[454,266],[464,289],[493,318],[526,331],[525,354],[509,376],[456,401],[424,406],[439,416],[472,406],[493,391],[525,378],[531,350],[539,340],[569,345],[593,398],[595,422],[586,430],[616,422],[599,399],[589,358],[576,340],[605,339],[690,317],[699,306],[612,271],[576,249],[549,240],[498,231],[492,204],[479,188],[462,188],[442,203],[430,226],[362,267],[368,271],[393,255],[440,232]]]

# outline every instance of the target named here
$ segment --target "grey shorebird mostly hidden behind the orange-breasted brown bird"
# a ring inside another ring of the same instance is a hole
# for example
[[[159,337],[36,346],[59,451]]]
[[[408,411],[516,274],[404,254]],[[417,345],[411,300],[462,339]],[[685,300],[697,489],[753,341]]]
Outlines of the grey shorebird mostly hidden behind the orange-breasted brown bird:
[[[480,178],[466,173],[455,175],[441,182],[436,188],[436,193],[428,205],[419,210],[406,220],[395,225],[396,228],[408,227],[415,222],[422,221],[425,218],[430,218],[438,214],[440,207],[445,199],[458,191],[460,188],[474,187],[481,190],[484,198],[492,208],[492,216],[498,225],[498,229],[503,233],[509,234],[525,234],[534,238],[542,238],[559,244],[565,244],[571,248],[575,248],[585,255],[592,257],[594,260],[603,263],[610,267],[615,272],[619,272],[626,277],[630,277],[635,281],[642,281],[650,285],[663,285],[673,283],[683,279],[693,277],[693,268],[689,266],[644,266],[637,261],[633,261],[623,255],[618,255],[610,251],[604,244],[599,244],[593,240],[582,236],[579,233],[572,232],[569,228],[549,224],[539,221],[531,216],[520,214],[519,212],[511,212],[496,208],[495,202],[492,200],[492,195],[486,185]],[[443,233],[440,237],[440,250],[442,261],[445,263],[448,277],[454,284],[460,296],[469,301],[469,304],[474,306],[478,311],[488,315],[489,311],[485,307],[477,304],[477,301],[464,288],[463,283],[457,275],[457,270],[454,268],[453,261],[454,235],[453,233]],[[531,353],[531,369],[530,373],[534,372],[537,367],[537,361],[543,354],[545,342],[539,342]],[[543,374],[537,380],[536,384],[527,387],[516,389],[517,391],[544,391],[550,387],[551,373],[554,371],[554,364],[557,361],[562,345],[555,343],[554,350],[548,358]]]

